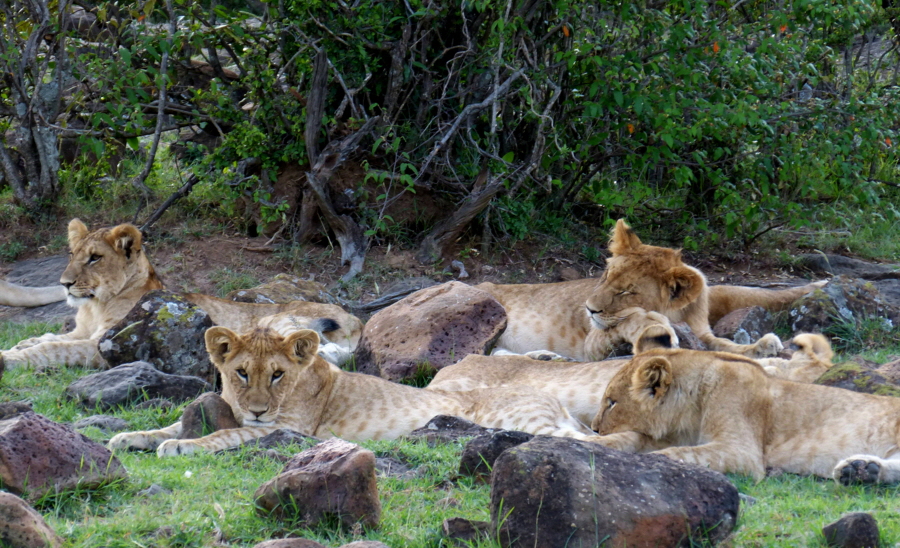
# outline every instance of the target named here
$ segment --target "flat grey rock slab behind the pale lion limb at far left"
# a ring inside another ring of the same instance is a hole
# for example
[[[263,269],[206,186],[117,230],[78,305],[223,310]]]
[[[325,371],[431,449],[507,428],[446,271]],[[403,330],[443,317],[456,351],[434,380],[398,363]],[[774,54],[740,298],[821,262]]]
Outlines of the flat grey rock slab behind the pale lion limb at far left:
[[[28,287],[59,284],[59,278],[69,264],[68,255],[54,255],[15,263],[6,281]],[[64,323],[75,318],[76,310],[65,301],[33,308],[0,306],[0,321],[15,323]]]

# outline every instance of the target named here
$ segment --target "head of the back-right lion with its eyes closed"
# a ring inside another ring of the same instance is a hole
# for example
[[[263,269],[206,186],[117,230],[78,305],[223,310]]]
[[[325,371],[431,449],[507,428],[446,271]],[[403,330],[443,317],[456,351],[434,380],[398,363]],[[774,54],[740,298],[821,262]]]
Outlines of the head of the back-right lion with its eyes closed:
[[[644,245],[619,219],[609,242],[612,256],[594,293],[585,303],[591,323],[598,329],[615,326],[620,312],[638,307],[668,315],[696,301],[706,279],[685,265],[681,251]]]

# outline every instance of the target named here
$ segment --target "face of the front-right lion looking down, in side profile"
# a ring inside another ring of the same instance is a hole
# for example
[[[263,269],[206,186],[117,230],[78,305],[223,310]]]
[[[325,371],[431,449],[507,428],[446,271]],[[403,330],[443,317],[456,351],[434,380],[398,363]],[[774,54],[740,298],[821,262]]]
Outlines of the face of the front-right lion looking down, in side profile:
[[[672,365],[665,355],[651,351],[635,356],[607,385],[591,428],[601,436],[639,432],[658,437],[667,428],[654,410],[664,402],[671,384]]]

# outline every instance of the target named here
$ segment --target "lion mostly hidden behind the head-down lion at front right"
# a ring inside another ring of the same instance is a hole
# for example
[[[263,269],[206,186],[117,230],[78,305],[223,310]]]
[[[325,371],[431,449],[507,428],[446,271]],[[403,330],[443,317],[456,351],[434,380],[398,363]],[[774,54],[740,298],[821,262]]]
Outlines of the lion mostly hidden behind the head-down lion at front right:
[[[635,354],[655,348],[672,348],[666,325],[648,325],[631,340]],[[831,367],[831,345],[822,335],[802,333],[792,340],[797,346],[790,359],[757,360],[767,373],[812,382]],[[442,368],[427,390],[466,391],[501,386],[529,386],[558,400],[569,413],[591,424],[603,402],[610,381],[629,362],[626,358],[586,363],[547,363],[526,356],[480,356],[470,354]]]

